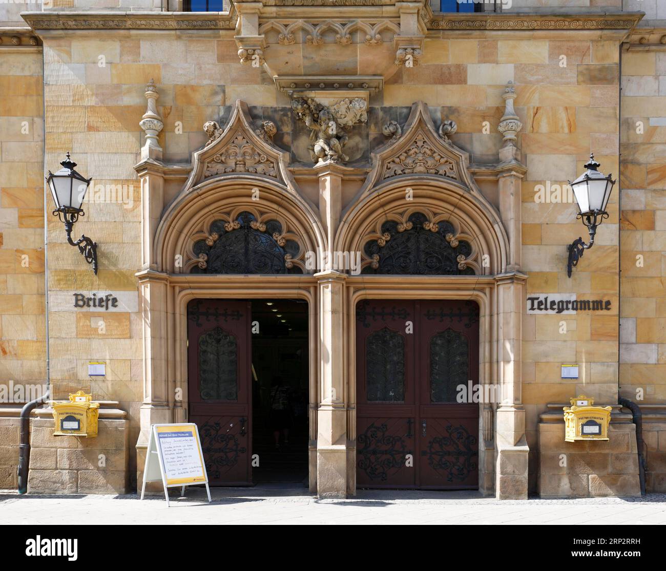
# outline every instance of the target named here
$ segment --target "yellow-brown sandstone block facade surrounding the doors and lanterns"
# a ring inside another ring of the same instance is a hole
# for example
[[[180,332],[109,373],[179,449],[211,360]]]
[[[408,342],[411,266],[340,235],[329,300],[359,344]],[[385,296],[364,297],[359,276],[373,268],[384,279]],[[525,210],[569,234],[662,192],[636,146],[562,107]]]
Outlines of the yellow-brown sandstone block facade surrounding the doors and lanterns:
[[[483,382],[508,393],[482,407],[479,485],[486,494],[635,494],[637,445],[626,411],[613,413],[609,443],[588,449],[560,438],[563,422],[548,405],[567,405],[581,393],[599,405],[616,405],[619,396],[641,405],[647,487],[666,489],[666,13],[655,0],[581,0],[575,13],[570,2],[543,9],[514,0],[502,13],[473,16],[388,0],[354,7],[313,2],[308,11],[277,0],[236,2],[222,15],[180,13],[180,2],[170,2],[170,12],[161,11],[162,3],[116,4],[73,0],[23,18],[11,10],[0,17],[0,85],[7,95],[0,100],[0,383],[45,383],[47,252],[52,397],[83,389],[118,401],[127,413],[127,420],[109,420],[127,425],[126,448],[113,448],[125,465],[97,474],[80,462],[70,467],[65,440],[72,437],[41,445],[49,420],[36,418],[32,491],[118,491],[136,488],[137,479],[140,486],[151,423],[187,419],[179,321],[187,296],[274,295],[306,299],[313,312],[310,488],[322,496],[354,493],[349,318],[354,300],[368,291],[478,299],[486,328]],[[111,14],[93,13],[100,9]],[[416,65],[406,65],[408,56]],[[521,123],[515,142],[498,130],[507,120],[507,85],[515,89],[509,100]],[[348,160],[313,164],[308,128],[292,110],[294,90],[366,97],[367,120],[348,128]],[[157,93],[162,128],[146,146],[140,122],[149,93]],[[202,126],[216,121],[224,130],[234,120],[276,174],[243,170],[248,161],[232,165],[230,172],[242,175],[235,186],[224,172],[205,174]],[[270,138],[255,132],[265,121],[275,126]],[[447,121],[456,123],[448,135],[440,130]],[[454,148],[460,184],[455,177],[438,183],[404,164],[400,174],[408,182],[387,183],[378,169],[394,157],[386,146],[396,134],[385,132],[391,122],[403,137],[422,128],[430,147]],[[43,204],[43,176],[66,152],[93,177],[74,232],[97,241],[97,276],[67,244],[51,216],[51,196]],[[571,196],[560,191],[583,172],[590,152],[618,182],[595,247],[567,278],[567,245],[587,231]],[[310,248],[362,249],[366,222],[380,220],[382,208],[405,210],[396,197],[408,185],[420,208],[453,212],[466,204],[460,196],[474,198],[460,223],[477,231],[476,280],[421,276],[398,283],[373,276],[369,283],[322,268],[278,283],[192,276],[174,262],[178,255],[188,262],[183,244],[206,232],[204,208],[232,212],[253,188],[265,190],[258,207],[284,214]],[[188,202],[192,188],[205,207]],[[372,197],[376,188],[389,202]],[[70,303],[73,293],[101,291],[121,300],[117,310],[79,311]],[[610,301],[610,309],[526,310],[529,296],[570,293]],[[324,350],[334,358],[318,359]],[[106,376],[89,377],[89,361],[105,361]],[[578,379],[561,378],[566,363],[579,365]],[[327,397],[331,388],[334,400]],[[0,428],[9,436],[0,449],[0,488],[16,485],[18,409],[1,409]],[[102,438],[104,423],[99,431]],[[565,471],[555,462],[561,454],[571,456]]]

